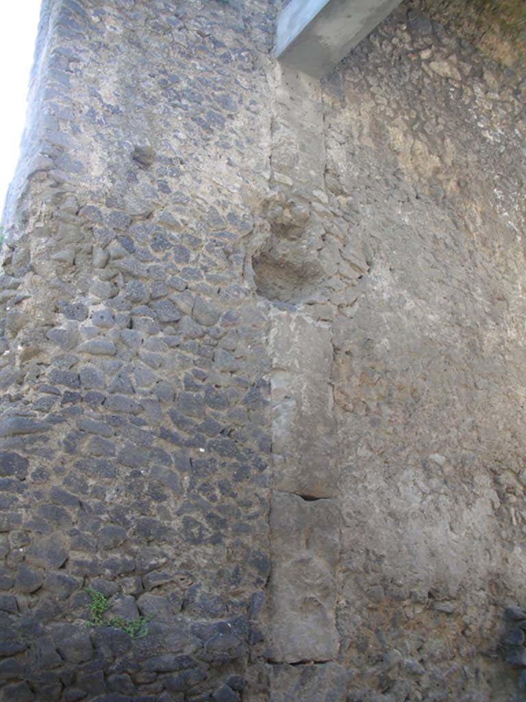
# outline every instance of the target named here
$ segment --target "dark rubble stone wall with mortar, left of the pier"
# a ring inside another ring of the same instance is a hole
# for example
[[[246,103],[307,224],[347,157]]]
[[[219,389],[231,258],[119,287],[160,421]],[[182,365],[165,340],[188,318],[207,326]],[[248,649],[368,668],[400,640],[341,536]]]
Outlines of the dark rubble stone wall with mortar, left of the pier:
[[[241,241],[273,27],[267,2],[43,6],[1,278],[6,701],[244,685],[270,437]],[[88,628],[86,587],[147,637]]]

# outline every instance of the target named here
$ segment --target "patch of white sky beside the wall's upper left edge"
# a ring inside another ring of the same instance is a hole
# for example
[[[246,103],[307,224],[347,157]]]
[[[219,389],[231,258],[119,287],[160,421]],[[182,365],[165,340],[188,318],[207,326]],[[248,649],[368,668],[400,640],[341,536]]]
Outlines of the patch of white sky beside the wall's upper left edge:
[[[0,213],[18,161],[40,5],[41,0],[4,0],[1,4]]]

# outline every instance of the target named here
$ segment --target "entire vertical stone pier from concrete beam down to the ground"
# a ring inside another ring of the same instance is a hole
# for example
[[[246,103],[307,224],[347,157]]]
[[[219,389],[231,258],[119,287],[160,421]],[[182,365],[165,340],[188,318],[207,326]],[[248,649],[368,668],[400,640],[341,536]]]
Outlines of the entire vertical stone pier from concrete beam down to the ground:
[[[276,270],[288,267],[290,273],[288,286],[275,293],[269,335],[271,699],[317,702],[334,685],[339,702],[346,676],[330,661],[339,654],[340,462],[332,391],[334,310],[324,289],[339,256],[330,260],[336,247],[325,244],[331,237],[324,221],[320,83],[286,66],[277,69],[276,81],[271,179],[286,214],[271,222],[271,256]]]

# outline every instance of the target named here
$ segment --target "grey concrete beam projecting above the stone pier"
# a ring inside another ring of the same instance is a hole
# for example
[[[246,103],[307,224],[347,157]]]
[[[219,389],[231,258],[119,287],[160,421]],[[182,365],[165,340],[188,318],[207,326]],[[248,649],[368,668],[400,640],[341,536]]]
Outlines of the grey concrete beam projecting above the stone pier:
[[[278,14],[276,57],[321,78],[400,0],[290,0]]]

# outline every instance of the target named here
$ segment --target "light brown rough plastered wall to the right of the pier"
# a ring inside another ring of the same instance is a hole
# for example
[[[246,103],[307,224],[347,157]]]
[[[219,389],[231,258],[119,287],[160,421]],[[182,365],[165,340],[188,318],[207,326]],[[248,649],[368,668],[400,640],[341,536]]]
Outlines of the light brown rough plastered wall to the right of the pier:
[[[504,700],[501,609],[526,596],[524,102],[431,30],[393,15],[325,97],[331,187],[370,261],[334,335],[339,626],[363,689]]]

